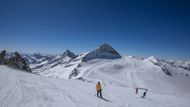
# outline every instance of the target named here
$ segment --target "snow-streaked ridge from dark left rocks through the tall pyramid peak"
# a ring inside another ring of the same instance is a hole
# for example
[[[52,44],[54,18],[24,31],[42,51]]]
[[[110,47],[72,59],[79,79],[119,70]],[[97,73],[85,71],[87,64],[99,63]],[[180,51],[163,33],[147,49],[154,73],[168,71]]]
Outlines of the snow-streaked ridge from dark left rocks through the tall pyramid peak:
[[[92,52],[80,55],[66,50],[61,55],[43,56],[41,54],[23,54],[23,57],[30,64],[33,73],[65,79],[78,76],[80,74],[78,68],[90,60],[121,58],[120,54],[108,44],[103,44]]]

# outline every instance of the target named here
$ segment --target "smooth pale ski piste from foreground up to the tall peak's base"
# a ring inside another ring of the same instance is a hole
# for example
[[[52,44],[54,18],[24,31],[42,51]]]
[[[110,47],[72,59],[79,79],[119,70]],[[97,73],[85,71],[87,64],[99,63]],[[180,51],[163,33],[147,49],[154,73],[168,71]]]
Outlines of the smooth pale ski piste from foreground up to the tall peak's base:
[[[168,69],[172,76],[148,59],[95,59],[64,79],[0,65],[0,107],[190,107],[190,77],[180,75],[189,71]],[[98,81],[108,101],[96,97]],[[135,88],[148,89],[147,96]]]

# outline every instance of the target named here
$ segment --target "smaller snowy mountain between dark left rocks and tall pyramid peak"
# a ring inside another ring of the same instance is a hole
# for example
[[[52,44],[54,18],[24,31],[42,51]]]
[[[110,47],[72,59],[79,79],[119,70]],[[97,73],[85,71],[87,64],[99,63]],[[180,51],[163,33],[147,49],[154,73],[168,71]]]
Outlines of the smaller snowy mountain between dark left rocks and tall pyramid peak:
[[[75,55],[67,50],[61,55],[44,56],[36,63],[30,63],[30,68],[33,73],[68,79],[74,68],[80,65],[84,55]]]

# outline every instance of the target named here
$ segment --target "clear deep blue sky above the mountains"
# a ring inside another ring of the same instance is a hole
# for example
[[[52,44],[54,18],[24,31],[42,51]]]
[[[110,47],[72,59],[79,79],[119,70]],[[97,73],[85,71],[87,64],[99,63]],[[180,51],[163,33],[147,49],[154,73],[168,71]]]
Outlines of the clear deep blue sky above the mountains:
[[[190,58],[189,0],[1,0],[0,50]]]

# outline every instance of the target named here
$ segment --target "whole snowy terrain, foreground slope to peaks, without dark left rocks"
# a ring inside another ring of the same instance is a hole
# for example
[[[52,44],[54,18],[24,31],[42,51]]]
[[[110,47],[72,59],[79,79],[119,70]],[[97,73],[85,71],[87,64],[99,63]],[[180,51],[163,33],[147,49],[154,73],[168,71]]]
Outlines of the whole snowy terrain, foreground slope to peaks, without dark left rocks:
[[[66,50],[60,55],[22,57],[39,75],[0,65],[0,107],[190,106],[188,62],[121,57],[108,44],[79,55]],[[102,83],[103,97],[111,102],[94,96],[97,81]],[[141,98],[144,90],[135,94],[136,88],[148,89],[147,98]]]

